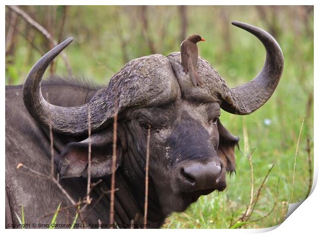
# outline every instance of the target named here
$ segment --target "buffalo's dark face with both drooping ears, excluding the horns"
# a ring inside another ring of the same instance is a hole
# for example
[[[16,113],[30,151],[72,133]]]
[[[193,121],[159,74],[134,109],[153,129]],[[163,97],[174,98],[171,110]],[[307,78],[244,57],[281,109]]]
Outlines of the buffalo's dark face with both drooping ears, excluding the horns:
[[[117,170],[144,201],[147,136],[150,128],[149,191],[162,213],[184,211],[201,195],[226,187],[235,171],[238,138],[221,124],[218,102],[191,102],[178,96],[158,107],[128,110],[118,122]],[[111,174],[113,129],[92,135],[92,177]],[[86,177],[88,139],[69,143],[60,175]]]

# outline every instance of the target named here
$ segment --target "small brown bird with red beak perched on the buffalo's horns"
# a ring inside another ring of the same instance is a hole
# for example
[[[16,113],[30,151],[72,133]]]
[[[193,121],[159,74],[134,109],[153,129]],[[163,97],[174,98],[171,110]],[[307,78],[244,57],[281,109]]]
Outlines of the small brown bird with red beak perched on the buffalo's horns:
[[[197,74],[197,43],[200,41],[205,41],[205,39],[201,38],[200,35],[193,34],[181,44],[181,63],[184,72],[186,75],[189,73],[189,77],[195,86],[202,82],[200,76]]]

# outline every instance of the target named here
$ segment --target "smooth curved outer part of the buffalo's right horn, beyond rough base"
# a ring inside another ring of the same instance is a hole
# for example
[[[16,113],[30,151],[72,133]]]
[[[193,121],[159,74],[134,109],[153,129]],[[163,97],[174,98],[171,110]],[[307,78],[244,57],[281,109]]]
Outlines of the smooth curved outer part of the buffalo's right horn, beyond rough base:
[[[268,32],[241,22],[232,24],[254,34],[267,53],[263,68],[255,79],[231,88],[231,98],[224,98],[221,104],[222,109],[229,113],[247,115],[256,111],[274,93],[283,70],[283,55],[280,46]]]

